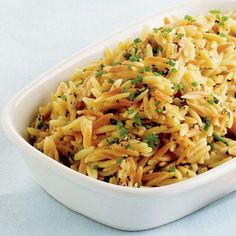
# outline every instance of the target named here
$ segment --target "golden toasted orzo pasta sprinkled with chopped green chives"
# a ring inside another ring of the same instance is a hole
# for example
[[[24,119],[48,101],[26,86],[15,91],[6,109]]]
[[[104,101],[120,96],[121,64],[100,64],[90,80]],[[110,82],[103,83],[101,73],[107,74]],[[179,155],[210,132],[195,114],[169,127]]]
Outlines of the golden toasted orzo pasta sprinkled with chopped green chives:
[[[89,177],[158,187],[236,156],[236,12],[165,18],[61,82],[32,145]]]

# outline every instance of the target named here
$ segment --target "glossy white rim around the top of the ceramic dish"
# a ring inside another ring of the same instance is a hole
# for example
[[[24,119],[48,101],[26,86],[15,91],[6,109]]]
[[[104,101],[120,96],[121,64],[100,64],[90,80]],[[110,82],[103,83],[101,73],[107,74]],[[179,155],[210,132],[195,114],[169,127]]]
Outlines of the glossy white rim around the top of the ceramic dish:
[[[191,4],[198,3],[198,2],[201,2],[201,0],[191,1]],[[233,3],[235,1],[227,0],[226,2]],[[187,5],[190,5],[189,1],[175,4],[175,7],[180,8]],[[148,19],[155,17],[157,14],[160,14],[160,15],[163,15],[164,13],[167,14],[167,12],[170,10],[173,10],[173,6],[165,8],[164,10],[161,10],[161,11],[157,11],[155,14],[151,14],[149,16],[143,17],[140,20],[137,20],[131,24],[128,24],[126,27],[122,29],[112,32],[107,37],[100,39],[93,44],[88,45],[87,47],[83,48],[77,53],[74,53],[72,56],[67,57],[66,59],[57,63],[55,66],[51,67],[46,72],[38,76],[32,82],[30,82],[28,85],[23,87],[19,92],[17,92],[10,99],[10,101],[7,103],[7,105],[3,109],[1,120],[2,120],[2,127],[3,127],[3,130],[5,131],[5,134],[16,144],[16,146],[18,146],[18,148],[22,152],[28,153],[30,155],[30,158],[38,158],[39,161],[45,161],[45,162],[50,163],[50,165],[53,165],[54,166],[53,172],[54,173],[57,172],[59,175],[61,175],[61,177],[66,178],[67,180],[70,180],[71,182],[77,183],[78,185],[80,185],[80,181],[76,181],[76,178],[80,178],[81,181],[87,182],[87,185],[86,185],[87,188],[91,188],[92,186],[95,186],[101,190],[108,190],[108,191],[111,190],[113,192],[120,192],[120,193],[123,192],[123,193],[136,194],[136,195],[137,194],[143,195],[143,194],[149,194],[149,193],[153,194],[153,193],[160,193],[160,192],[176,194],[177,192],[188,191],[198,186],[207,184],[208,182],[216,179],[217,177],[224,175],[225,172],[230,172],[231,170],[236,169],[236,158],[234,157],[231,160],[221,164],[220,166],[217,166],[211,170],[206,171],[205,173],[199,174],[190,179],[177,182],[174,184],[170,184],[170,185],[165,185],[165,186],[160,186],[160,187],[150,187],[150,188],[146,188],[146,187],[134,188],[134,187],[121,186],[121,185],[114,185],[114,184],[110,184],[110,183],[107,183],[98,179],[91,178],[80,172],[74,171],[73,169],[63,165],[62,163],[59,163],[49,158],[46,154],[42,153],[41,151],[33,147],[29,142],[27,142],[27,140],[25,140],[15,128],[15,124],[11,116],[11,110],[17,104],[18,99],[20,99],[22,95],[24,95],[24,93],[29,92],[29,90],[35,89],[39,85],[45,83],[50,77],[53,77],[54,73],[58,73],[59,71],[65,70],[68,64],[72,64],[73,61],[83,58],[84,55],[86,55],[87,51],[91,50],[92,48],[95,48],[96,46],[102,43],[104,44],[110,38],[117,36],[119,33],[124,33],[125,31],[128,31],[133,26],[137,26],[137,25],[140,25],[142,22],[148,21]]]

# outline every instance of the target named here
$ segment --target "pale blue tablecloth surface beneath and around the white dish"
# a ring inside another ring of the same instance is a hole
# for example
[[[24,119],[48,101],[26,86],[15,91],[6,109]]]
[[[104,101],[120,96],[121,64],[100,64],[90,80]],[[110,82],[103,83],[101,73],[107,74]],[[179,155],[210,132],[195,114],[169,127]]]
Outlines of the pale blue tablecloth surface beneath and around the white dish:
[[[181,0],[0,0],[0,110],[65,57],[175,2]],[[236,192],[153,230],[115,230],[44,192],[0,128],[0,235],[236,235]]]

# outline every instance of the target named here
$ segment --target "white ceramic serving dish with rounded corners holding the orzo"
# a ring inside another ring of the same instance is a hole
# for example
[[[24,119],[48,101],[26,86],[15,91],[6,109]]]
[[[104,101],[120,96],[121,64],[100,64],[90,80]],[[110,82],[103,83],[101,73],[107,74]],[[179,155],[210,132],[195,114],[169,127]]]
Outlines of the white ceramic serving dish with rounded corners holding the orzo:
[[[65,60],[20,91],[6,106],[3,128],[23,152],[35,180],[62,204],[103,224],[144,230],[177,220],[236,188],[236,159],[181,183],[158,188],[127,188],[92,179],[46,157],[26,141],[26,127],[39,105],[75,68],[102,56],[104,46],[134,37],[143,25],[157,27],[167,15],[206,14],[235,9],[236,1],[199,0],[173,7],[134,24]]]

